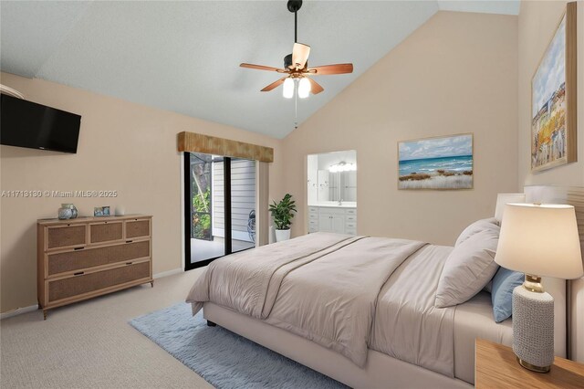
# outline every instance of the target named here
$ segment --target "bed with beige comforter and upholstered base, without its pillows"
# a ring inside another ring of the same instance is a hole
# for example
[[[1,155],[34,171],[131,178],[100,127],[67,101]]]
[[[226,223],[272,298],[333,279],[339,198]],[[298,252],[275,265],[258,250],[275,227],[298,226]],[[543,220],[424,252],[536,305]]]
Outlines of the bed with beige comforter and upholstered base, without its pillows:
[[[469,387],[474,339],[510,345],[490,295],[435,307],[454,247],[381,237],[311,234],[221,258],[187,298],[193,313],[352,387]],[[566,283],[555,346],[566,355]]]

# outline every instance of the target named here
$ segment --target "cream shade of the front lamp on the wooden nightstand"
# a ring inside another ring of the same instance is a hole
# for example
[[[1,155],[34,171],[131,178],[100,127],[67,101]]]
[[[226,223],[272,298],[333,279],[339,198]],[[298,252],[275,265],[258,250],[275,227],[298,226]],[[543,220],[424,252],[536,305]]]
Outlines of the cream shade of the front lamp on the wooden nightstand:
[[[579,279],[584,275],[571,205],[505,205],[495,262],[532,276]]]

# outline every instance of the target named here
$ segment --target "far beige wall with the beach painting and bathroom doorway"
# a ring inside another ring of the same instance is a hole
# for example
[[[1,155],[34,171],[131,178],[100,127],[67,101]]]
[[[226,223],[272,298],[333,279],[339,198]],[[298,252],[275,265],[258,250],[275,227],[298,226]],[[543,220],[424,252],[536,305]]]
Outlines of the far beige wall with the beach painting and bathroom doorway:
[[[517,18],[439,12],[284,142],[306,231],[307,154],[357,150],[358,234],[452,245],[517,190]],[[332,77],[332,76],[331,76]],[[342,76],[336,76],[342,77]],[[399,191],[397,142],[474,133],[474,189]],[[294,163],[291,163],[294,161]]]

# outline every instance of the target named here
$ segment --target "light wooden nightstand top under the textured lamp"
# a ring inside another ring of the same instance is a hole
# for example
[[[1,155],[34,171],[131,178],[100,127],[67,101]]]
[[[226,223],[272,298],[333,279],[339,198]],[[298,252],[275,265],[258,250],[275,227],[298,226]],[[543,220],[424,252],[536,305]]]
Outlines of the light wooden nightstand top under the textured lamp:
[[[549,373],[521,367],[511,347],[477,339],[474,354],[476,388],[584,388],[584,364],[556,357]]]

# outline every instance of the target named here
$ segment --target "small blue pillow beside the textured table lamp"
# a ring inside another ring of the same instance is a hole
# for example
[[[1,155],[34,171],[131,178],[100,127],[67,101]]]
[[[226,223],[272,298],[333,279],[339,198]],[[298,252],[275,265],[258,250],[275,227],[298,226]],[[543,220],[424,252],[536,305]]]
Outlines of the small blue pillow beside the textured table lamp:
[[[491,302],[493,302],[493,316],[499,323],[511,317],[513,313],[513,289],[523,284],[525,275],[518,271],[500,267],[493,278]]]

